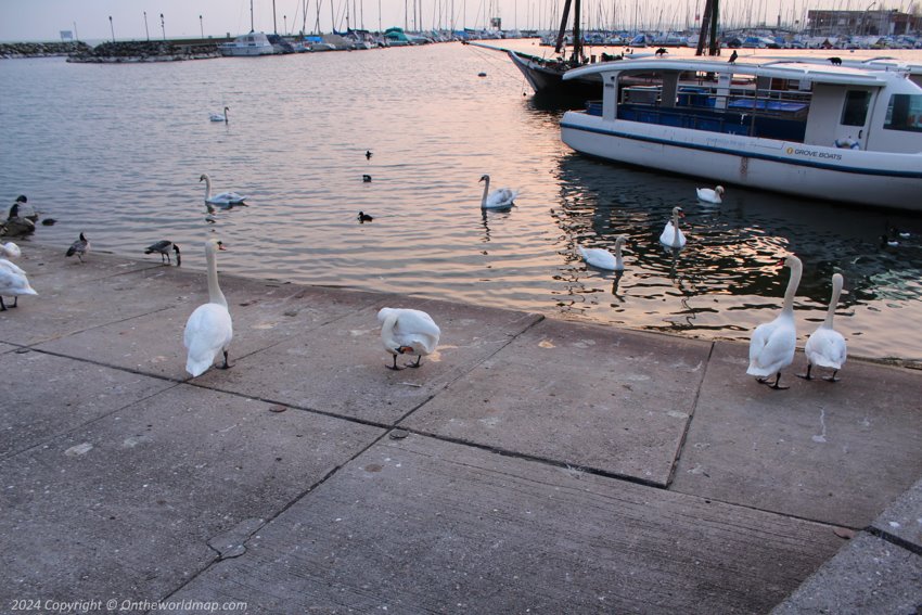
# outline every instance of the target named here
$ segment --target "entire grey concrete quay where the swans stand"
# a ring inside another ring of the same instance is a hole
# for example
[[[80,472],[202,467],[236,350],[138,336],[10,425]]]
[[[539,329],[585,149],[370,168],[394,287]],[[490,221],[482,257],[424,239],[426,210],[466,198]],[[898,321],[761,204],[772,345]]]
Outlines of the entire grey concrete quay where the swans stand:
[[[772,390],[742,344],[222,274],[190,379],[201,251],[21,246],[0,613],[922,612],[918,370]],[[421,369],[384,306],[440,325]]]

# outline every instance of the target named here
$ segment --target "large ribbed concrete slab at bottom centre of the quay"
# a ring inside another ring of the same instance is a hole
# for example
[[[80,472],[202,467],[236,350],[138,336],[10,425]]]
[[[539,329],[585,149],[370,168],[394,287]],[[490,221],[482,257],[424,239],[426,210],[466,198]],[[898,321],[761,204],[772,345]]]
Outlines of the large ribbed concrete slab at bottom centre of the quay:
[[[840,542],[819,524],[411,434],[377,443],[170,600],[262,614],[759,613]]]

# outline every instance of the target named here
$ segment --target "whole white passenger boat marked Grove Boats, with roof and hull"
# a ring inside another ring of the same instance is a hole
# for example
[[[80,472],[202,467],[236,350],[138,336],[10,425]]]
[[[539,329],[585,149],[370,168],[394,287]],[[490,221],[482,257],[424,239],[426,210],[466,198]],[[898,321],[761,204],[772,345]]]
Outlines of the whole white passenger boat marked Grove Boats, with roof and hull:
[[[922,210],[922,88],[907,66],[633,60],[575,68],[602,101],[577,152],[807,198]]]

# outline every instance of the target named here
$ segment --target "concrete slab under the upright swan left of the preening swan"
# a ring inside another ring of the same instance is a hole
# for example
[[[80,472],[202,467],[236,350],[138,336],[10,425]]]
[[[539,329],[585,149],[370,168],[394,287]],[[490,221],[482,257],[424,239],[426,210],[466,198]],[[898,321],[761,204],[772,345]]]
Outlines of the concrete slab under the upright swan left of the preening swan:
[[[177,381],[189,379],[182,334],[189,315],[208,300],[205,277],[194,271],[178,273],[175,267],[161,271],[162,276],[177,278],[168,283],[176,297],[171,307],[36,347],[69,357],[82,357],[87,347],[93,347],[92,359],[107,366]],[[163,282],[155,283],[163,285]],[[221,278],[221,286],[233,319],[232,364],[249,354],[380,300],[370,293],[267,284],[229,276]],[[99,338],[106,343],[99,344]]]

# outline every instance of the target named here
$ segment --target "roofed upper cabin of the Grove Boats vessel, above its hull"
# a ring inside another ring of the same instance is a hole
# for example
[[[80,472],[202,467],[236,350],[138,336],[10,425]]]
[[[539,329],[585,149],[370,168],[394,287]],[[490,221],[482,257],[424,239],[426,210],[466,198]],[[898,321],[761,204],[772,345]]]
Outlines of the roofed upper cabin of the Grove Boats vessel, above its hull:
[[[922,151],[922,88],[899,68],[636,60],[589,69],[601,74],[604,88],[603,100],[586,113],[609,120],[823,148]]]

